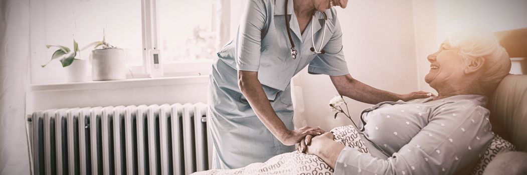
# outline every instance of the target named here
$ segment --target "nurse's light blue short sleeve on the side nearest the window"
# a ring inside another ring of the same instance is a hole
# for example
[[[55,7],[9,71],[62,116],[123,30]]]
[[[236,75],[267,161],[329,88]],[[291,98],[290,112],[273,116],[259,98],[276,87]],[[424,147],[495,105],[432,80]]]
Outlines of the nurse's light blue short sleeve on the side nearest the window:
[[[240,20],[237,36],[236,67],[258,71],[260,67],[261,35],[267,19],[267,8],[261,0],[251,0]]]

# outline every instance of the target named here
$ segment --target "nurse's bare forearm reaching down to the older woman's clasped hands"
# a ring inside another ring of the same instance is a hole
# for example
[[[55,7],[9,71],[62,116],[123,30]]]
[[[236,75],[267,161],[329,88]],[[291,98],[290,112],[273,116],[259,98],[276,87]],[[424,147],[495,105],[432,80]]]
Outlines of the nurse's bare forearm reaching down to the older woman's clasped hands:
[[[275,110],[272,109],[264,89],[258,80],[258,72],[238,71],[238,86],[243,96],[249,101],[249,105],[255,111],[256,116],[258,116],[276,138],[283,142],[281,139],[286,135],[288,129],[284,122],[276,115]]]

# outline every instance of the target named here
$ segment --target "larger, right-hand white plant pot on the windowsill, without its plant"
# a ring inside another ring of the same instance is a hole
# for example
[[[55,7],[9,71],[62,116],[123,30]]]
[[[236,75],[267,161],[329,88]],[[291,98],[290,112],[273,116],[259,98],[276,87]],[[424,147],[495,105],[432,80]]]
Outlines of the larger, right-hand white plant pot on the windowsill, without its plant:
[[[94,81],[126,79],[126,52],[123,49],[96,49],[91,58]]]

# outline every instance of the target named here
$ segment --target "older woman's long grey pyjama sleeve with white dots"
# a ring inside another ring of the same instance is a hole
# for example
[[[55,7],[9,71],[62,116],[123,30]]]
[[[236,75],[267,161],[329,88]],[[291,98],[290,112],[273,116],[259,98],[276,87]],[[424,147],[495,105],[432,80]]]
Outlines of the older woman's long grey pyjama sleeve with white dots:
[[[480,106],[454,103],[431,116],[428,125],[388,159],[346,147],[335,174],[453,174],[478,158],[493,138],[489,110]]]

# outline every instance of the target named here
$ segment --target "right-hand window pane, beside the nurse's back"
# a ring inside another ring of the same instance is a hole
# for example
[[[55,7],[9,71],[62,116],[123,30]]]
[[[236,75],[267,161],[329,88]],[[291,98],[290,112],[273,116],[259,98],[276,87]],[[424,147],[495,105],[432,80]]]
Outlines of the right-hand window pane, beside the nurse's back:
[[[214,56],[215,10],[214,0],[157,1],[158,49],[165,64]]]

